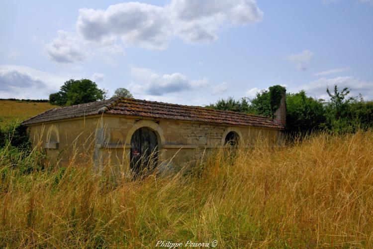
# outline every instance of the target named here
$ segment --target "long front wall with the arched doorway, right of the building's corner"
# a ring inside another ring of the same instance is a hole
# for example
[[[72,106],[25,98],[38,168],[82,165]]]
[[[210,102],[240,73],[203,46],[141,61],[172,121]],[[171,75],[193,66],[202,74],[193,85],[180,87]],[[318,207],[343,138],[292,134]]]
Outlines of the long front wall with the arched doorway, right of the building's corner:
[[[121,165],[130,160],[132,134],[143,126],[156,132],[161,160],[173,157],[175,164],[192,160],[204,149],[222,146],[229,131],[236,132],[240,139],[248,145],[253,145],[259,140],[263,146],[276,146],[282,140],[280,130],[257,127],[199,124],[172,120],[143,120],[119,118],[118,116],[103,117],[103,125],[106,139],[104,158],[110,158],[114,164]],[[109,154],[111,156],[108,156]]]

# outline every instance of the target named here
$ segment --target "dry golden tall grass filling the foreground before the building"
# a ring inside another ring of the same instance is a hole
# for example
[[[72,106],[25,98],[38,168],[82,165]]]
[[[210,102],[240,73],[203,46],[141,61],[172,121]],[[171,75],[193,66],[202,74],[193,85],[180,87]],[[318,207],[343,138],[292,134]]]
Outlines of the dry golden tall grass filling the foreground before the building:
[[[182,172],[20,174],[0,155],[0,247],[373,247],[373,132],[205,154]],[[12,169],[13,168],[13,169]],[[119,183],[118,183],[119,182]]]

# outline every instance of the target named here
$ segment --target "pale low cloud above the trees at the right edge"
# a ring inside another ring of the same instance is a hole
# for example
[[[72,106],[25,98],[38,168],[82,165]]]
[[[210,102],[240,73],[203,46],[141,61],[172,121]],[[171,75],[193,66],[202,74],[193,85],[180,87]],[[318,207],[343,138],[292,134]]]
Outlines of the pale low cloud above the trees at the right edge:
[[[361,93],[366,100],[373,100],[373,82],[362,81],[349,76],[330,79],[320,78],[298,87],[296,91],[305,90],[309,96],[328,100],[329,96],[326,93],[326,88],[329,87],[332,90],[334,85],[338,85],[340,90],[348,87],[351,91],[350,96],[356,97]]]

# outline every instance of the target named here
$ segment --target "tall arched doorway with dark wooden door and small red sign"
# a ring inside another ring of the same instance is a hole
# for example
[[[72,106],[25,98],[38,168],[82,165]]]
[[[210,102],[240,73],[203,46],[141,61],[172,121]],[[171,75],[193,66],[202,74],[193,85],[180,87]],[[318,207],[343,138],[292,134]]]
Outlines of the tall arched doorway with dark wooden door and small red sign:
[[[157,134],[148,127],[138,128],[131,137],[131,170],[135,176],[146,168],[151,170],[158,161]]]

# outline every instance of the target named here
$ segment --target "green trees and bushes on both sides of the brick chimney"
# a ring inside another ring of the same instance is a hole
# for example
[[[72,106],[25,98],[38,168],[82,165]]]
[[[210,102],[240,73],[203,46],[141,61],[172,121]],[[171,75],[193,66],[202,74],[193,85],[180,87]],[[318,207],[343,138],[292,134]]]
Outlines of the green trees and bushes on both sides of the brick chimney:
[[[232,97],[220,99],[208,108],[273,117],[273,93],[281,86],[258,92],[253,99]],[[342,134],[373,127],[373,102],[365,101],[362,95],[348,97],[349,88],[342,91],[335,85],[326,89],[329,100],[306,96],[305,91],[286,94],[286,131],[291,134],[328,131]]]

